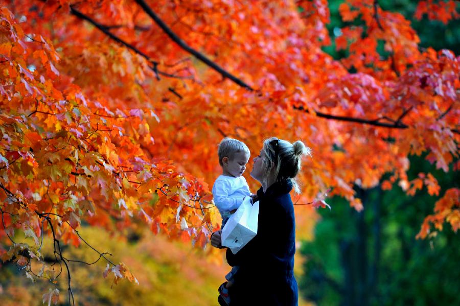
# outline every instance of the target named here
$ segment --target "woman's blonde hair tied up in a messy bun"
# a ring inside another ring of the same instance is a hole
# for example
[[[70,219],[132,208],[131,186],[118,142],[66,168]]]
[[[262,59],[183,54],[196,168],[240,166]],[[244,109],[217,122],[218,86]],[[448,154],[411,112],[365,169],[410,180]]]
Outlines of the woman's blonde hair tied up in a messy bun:
[[[311,149],[300,140],[291,144],[287,140],[271,137],[265,140],[262,152],[265,157],[262,162],[262,183],[268,185],[275,181],[291,181],[294,191],[300,193],[295,176],[301,170],[302,157],[312,156]]]

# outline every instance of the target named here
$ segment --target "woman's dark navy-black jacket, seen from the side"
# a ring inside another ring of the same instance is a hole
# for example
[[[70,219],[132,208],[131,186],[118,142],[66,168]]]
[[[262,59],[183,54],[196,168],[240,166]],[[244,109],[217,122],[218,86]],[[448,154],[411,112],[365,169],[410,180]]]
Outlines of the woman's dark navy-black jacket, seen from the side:
[[[239,266],[229,288],[231,305],[297,305],[294,278],[295,219],[290,181],[275,182],[259,197],[257,235],[238,253],[226,251]]]

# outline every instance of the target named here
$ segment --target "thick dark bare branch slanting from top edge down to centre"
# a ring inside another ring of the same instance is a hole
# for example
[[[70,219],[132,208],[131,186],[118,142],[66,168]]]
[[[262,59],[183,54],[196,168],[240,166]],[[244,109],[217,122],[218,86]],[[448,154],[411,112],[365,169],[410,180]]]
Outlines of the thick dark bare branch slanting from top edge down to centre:
[[[240,85],[241,87],[244,87],[246,89],[249,89],[251,91],[254,91],[254,88],[249,86],[248,84],[244,83],[242,80],[238,79],[234,75],[230,74],[227,72],[225,69],[217,65],[215,62],[204,56],[203,54],[199,53],[195,49],[191,48],[185,41],[180,39],[167,25],[165,22],[163,22],[162,19],[160,19],[155,12],[145,3],[144,0],[136,0],[136,3],[139,4],[142,9],[149,15],[153,21],[175,42],[177,43],[180,48],[183,50],[187,51],[188,53],[192,54],[195,56],[197,59],[205,63],[206,65],[210,66],[214,70],[216,70],[218,73],[222,75],[222,77],[227,78],[232,80],[234,83]]]

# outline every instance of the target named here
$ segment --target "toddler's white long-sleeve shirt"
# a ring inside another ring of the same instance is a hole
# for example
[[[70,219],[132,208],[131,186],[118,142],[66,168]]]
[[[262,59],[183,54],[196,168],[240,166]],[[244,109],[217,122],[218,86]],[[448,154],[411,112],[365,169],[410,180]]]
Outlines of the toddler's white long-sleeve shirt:
[[[250,195],[249,186],[243,176],[220,175],[213,185],[214,203],[222,219],[229,217],[229,211],[240,207],[244,197]]]

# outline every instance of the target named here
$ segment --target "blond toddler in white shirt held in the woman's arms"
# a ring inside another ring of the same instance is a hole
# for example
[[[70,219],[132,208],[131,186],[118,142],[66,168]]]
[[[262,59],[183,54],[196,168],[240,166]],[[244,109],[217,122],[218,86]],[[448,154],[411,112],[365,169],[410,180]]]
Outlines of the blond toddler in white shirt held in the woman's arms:
[[[216,179],[213,185],[214,203],[222,217],[222,228],[231,214],[243,203],[243,199],[252,196],[246,179],[242,176],[246,170],[250,152],[248,147],[240,140],[225,137],[217,150],[219,164],[222,167],[222,175]],[[219,288],[220,295],[229,304],[228,288],[233,283],[233,276],[238,267],[232,268],[225,278],[227,282]]]

